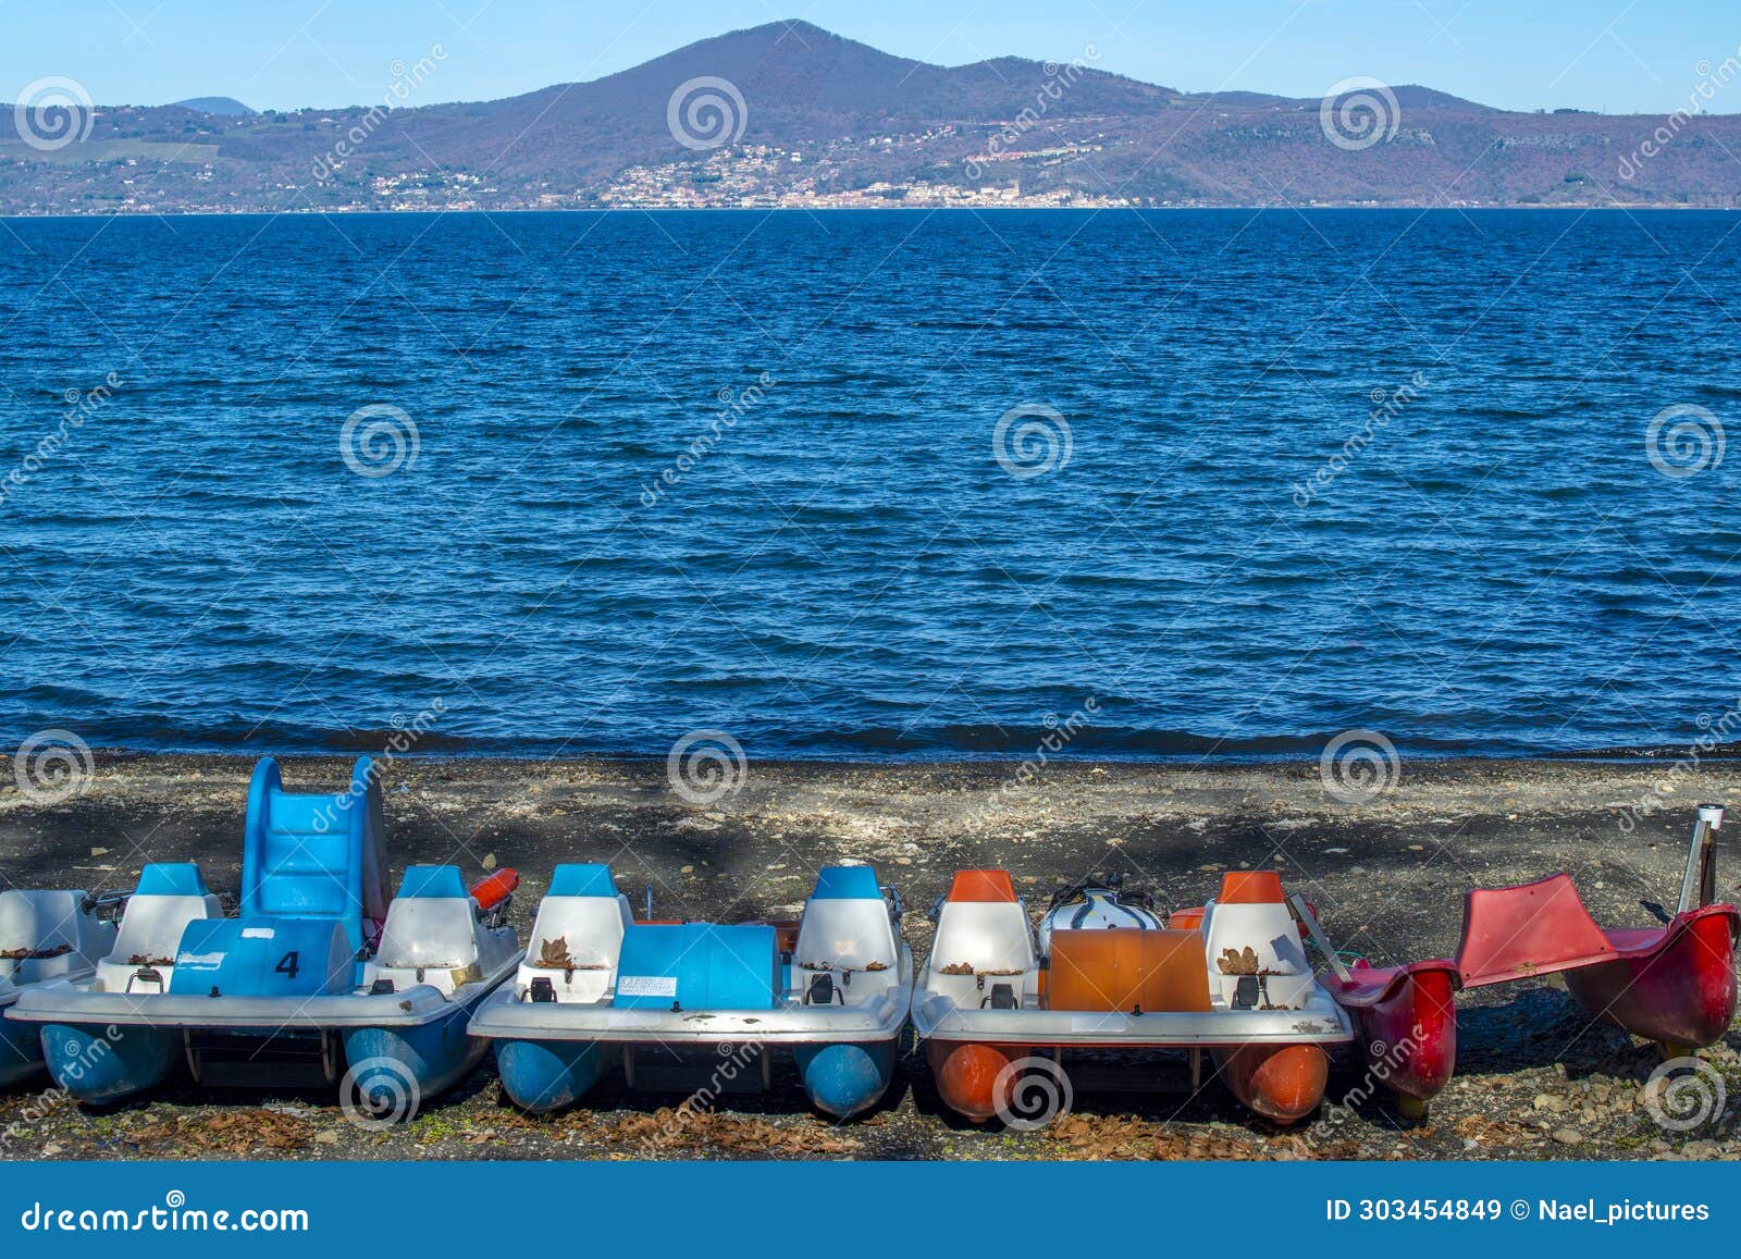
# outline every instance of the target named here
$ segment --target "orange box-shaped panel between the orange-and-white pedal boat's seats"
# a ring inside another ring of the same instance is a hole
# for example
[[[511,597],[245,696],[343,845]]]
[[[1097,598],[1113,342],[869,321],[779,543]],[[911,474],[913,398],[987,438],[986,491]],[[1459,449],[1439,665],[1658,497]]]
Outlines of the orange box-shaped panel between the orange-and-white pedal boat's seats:
[[[1210,1010],[1198,932],[1114,926],[1053,932],[1046,1005],[1053,1010]]]

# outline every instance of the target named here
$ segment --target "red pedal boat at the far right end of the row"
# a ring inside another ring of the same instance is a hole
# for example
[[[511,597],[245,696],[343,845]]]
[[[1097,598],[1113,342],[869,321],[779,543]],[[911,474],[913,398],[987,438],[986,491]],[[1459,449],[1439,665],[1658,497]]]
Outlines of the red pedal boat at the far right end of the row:
[[[1656,1041],[1664,1057],[1717,1043],[1736,1013],[1741,930],[1734,906],[1713,904],[1711,832],[1722,815],[1699,806],[1680,909],[1661,914],[1661,926],[1602,928],[1572,876],[1555,874],[1471,890],[1455,958],[1339,965],[1325,984],[1358,1022],[1367,1071],[1396,1094],[1403,1114],[1426,1114],[1457,1062],[1455,993],[1553,973],[1590,1015]]]

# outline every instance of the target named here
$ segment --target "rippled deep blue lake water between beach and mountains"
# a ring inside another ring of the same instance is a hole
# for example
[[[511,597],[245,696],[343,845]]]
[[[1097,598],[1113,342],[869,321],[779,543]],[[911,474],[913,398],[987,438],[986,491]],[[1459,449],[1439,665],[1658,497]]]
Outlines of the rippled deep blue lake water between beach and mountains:
[[[1685,742],[1741,695],[1738,228],[7,219],[0,744]]]

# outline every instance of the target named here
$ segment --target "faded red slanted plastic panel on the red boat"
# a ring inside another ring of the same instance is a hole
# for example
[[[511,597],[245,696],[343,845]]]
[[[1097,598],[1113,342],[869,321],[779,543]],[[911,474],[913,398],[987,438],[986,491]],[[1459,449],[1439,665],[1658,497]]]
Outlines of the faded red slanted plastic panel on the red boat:
[[[1516,888],[1476,888],[1462,909],[1457,972],[1464,987],[1546,975],[1614,958],[1570,874]]]

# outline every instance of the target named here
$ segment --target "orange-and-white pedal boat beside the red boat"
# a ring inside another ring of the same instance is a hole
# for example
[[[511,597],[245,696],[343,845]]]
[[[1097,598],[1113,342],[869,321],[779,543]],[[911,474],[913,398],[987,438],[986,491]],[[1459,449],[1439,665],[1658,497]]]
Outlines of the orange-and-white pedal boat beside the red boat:
[[[956,874],[912,1001],[952,1111],[1008,1116],[1041,1052],[1153,1048],[1187,1050],[1193,1083],[1208,1050],[1234,1097],[1276,1123],[1316,1109],[1330,1048],[1354,1034],[1313,975],[1280,876],[1231,871],[1215,900],[1165,928],[1072,928],[1078,912],[1048,911],[1039,953],[1005,871]]]

